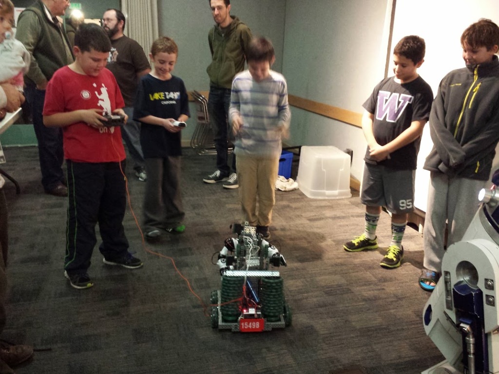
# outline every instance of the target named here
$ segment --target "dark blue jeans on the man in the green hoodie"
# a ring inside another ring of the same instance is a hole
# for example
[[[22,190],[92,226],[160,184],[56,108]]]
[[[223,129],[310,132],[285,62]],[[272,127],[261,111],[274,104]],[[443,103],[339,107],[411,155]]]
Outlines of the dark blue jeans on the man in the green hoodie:
[[[229,176],[231,167],[228,165],[229,141],[232,139],[231,126],[227,121],[231,90],[227,88],[210,87],[208,97],[208,115],[213,128],[213,141],[217,151],[217,169],[222,175]],[[232,156],[232,170],[236,173],[236,155]]]

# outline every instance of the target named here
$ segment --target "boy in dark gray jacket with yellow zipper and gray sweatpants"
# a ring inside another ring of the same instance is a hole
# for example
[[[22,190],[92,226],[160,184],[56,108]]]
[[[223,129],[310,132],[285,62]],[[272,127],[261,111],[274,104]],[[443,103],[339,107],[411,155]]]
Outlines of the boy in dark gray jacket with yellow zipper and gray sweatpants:
[[[424,269],[419,285],[433,291],[447,246],[461,240],[478,207],[478,192],[489,180],[499,140],[499,27],[480,19],[461,35],[466,67],[440,83],[430,113],[434,146],[425,226]]]

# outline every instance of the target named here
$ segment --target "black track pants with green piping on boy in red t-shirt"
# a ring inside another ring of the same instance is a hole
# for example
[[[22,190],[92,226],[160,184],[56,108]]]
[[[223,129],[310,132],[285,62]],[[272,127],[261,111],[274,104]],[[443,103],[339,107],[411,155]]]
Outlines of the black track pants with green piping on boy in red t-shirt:
[[[97,243],[99,223],[100,252],[108,260],[123,257],[128,240],[123,228],[126,187],[120,163],[77,163],[66,161],[69,202],[67,208],[66,256],[64,270],[69,275],[84,274],[90,266]]]

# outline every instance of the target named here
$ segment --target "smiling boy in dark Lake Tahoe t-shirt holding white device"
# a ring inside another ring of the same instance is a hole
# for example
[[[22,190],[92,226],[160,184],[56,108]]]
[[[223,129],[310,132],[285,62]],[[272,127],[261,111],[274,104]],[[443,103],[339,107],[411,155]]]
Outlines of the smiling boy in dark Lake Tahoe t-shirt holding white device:
[[[144,152],[146,190],[144,232],[157,238],[163,230],[185,230],[180,190],[181,133],[189,116],[189,101],[182,79],[171,73],[178,56],[177,44],[169,37],[153,42],[154,69],[140,80],[135,99],[134,119],[141,122],[140,144]]]

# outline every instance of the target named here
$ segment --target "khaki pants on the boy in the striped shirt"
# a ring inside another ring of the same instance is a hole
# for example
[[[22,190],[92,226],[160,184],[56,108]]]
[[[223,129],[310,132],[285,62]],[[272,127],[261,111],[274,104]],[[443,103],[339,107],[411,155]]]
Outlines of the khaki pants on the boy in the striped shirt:
[[[243,219],[251,226],[270,225],[272,208],[275,204],[274,188],[279,170],[279,155],[267,157],[238,155],[236,169]]]

